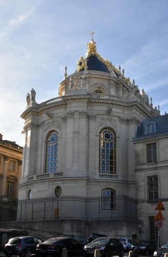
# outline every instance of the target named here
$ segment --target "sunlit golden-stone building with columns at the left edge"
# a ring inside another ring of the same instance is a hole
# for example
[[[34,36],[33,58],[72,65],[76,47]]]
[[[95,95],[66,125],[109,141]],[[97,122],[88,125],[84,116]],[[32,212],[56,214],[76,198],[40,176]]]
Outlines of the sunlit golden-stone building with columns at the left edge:
[[[23,147],[0,134],[0,221],[16,216],[17,183],[22,172]],[[14,204],[15,201],[15,204]]]

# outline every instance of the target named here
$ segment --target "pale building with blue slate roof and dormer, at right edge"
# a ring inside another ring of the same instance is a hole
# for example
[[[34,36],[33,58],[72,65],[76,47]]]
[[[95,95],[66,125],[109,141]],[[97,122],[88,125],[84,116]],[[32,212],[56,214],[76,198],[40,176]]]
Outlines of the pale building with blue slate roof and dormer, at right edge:
[[[141,221],[141,233],[156,239],[155,207],[161,201],[165,211],[161,211],[164,221],[160,234],[164,241],[168,236],[168,114],[144,120],[133,142],[137,216]]]

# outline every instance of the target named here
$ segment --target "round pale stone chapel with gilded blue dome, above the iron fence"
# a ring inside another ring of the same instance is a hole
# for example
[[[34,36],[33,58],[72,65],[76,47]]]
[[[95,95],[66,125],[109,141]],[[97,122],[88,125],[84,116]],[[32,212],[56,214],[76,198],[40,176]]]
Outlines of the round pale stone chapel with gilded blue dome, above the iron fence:
[[[131,83],[124,71],[121,73],[121,67],[115,68],[97,53],[93,39],[88,44],[86,58],[80,58],[77,70],[69,76],[65,72],[59,97],[41,104],[34,100],[27,104],[21,115],[25,120],[24,159],[18,185],[21,203],[33,203],[35,199],[40,201],[45,197],[102,197],[101,211],[112,215],[118,210],[116,196],[128,197],[129,204],[132,199],[141,201],[144,196],[138,193],[141,191],[138,183],[144,183],[144,175],[138,176],[136,154],[143,149],[143,144],[139,144],[140,148],[138,146],[135,151],[138,143],[133,142],[133,138],[137,136],[141,122],[158,117],[160,111],[153,108],[152,101],[149,103],[144,90],[140,93],[135,81]],[[52,148],[55,149],[55,159],[51,157]],[[108,149],[110,153],[107,154]],[[125,212],[129,209],[124,204],[122,207]],[[59,209],[53,219],[59,219],[58,213]],[[25,215],[24,219],[28,217]],[[128,218],[131,221],[130,215]],[[118,213],[114,231],[112,224],[107,225],[109,221],[101,216],[101,222],[108,230],[103,233],[129,237],[137,234],[138,238],[150,239],[147,228],[144,232],[140,230],[142,224],[146,225],[141,218],[139,209],[134,223],[129,223],[126,218],[119,219]],[[127,227],[124,231],[119,220]],[[100,226],[97,231],[94,226],[89,229],[90,232],[102,233],[98,231],[102,229]]]

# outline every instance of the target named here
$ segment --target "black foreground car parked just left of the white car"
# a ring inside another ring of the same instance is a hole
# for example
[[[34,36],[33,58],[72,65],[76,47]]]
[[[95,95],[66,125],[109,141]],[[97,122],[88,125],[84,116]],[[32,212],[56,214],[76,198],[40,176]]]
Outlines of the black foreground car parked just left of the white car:
[[[100,250],[102,257],[109,257],[119,255],[124,256],[124,247],[119,239],[117,238],[97,238],[91,243],[84,246],[84,256],[94,256],[95,249]]]

